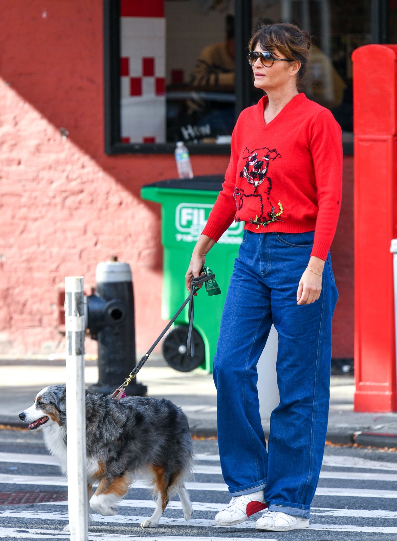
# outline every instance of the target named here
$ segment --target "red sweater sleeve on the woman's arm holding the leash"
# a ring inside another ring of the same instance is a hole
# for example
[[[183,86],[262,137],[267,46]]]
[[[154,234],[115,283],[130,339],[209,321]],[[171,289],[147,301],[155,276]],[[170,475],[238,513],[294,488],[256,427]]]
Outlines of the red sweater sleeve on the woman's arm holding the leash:
[[[236,201],[233,196],[236,184],[237,161],[239,160],[236,149],[236,128],[237,124],[231,134],[231,155],[229,166],[224,175],[222,190],[219,192],[208,216],[206,226],[201,232],[202,235],[209,236],[215,242],[219,241],[222,234],[233,222],[236,214]]]

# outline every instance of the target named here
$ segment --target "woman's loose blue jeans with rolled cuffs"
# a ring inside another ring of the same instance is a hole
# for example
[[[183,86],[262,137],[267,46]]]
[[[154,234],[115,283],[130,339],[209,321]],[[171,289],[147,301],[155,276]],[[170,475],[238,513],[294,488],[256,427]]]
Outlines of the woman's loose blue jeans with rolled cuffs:
[[[328,423],[331,321],[338,289],[330,252],[319,299],[297,305],[314,231],[244,229],[224,303],[214,358],[223,478],[232,496],[264,489],[270,511],[310,517]],[[270,416],[268,450],[256,364],[274,324],[279,335],[280,404]]]

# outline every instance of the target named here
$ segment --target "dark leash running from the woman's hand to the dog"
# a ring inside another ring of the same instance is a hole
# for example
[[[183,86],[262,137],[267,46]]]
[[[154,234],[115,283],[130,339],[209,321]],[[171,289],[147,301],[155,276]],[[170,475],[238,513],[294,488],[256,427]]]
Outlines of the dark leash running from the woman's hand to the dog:
[[[207,267],[208,268],[208,267]],[[194,342],[191,339],[191,333],[193,332],[193,319],[194,319],[194,294],[200,289],[198,286],[200,286],[202,283],[208,282],[209,280],[212,280],[211,287],[214,288],[214,284],[217,288],[217,293],[210,293],[209,294],[219,294],[220,289],[219,286],[217,286],[215,282],[215,274],[204,274],[204,276],[197,276],[195,278],[193,276],[193,279],[191,280],[190,284],[190,294],[188,298],[183,302],[182,306],[178,309],[176,314],[174,315],[173,319],[170,320],[170,322],[167,324],[166,328],[164,328],[164,331],[160,334],[160,336],[157,338],[157,340],[154,342],[154,344],[148,349],[147,353],[145,353],[142,357],[142,359],[138,362],[138,364],[135,366],[134,370],[130,372],[130,375],[128,378],[125,379],[123,385],[118,387],[116,391],[114,391],[113,394],[111,394],[111,398],[114,398],[116,400],[120,400],[121,398],[124,398],[127,396],[127,393],[125,393],[125,387],[130,383],[131,380],[133,380],[136,376],[136,374],[141,370],[142,366],[145,364],[145,362],[148,360],[150,353],[153,351],[153,349],[157,346],[158,342],[163,338],[164,334],[168,331],[170,326],[174,323],[178,315],[182,312],[183,308],[188,304],[189,302],[189,331],[188,331],[188,340],[187,340],[187,355],[188,357],[193,357],[194,355]],[[206,286],[207,287],[207,286]],[[208,289],[207,289],[208,291]],[[219,293],[218,293],[219,292]]]

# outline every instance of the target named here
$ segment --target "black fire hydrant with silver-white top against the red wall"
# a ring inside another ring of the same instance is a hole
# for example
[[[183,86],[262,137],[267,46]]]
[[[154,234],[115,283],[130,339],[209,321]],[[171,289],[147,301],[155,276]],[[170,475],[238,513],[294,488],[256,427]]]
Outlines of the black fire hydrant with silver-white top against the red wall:
[[[111,261],[96,267],[96,292],[87,298],[88,328],[98,342],[98,383],[92,391],[110,394],[136,365],[135,313],[131,269],[128,263]],[[134,378],[125,388],[128,395],[143,396],[147,387]]]

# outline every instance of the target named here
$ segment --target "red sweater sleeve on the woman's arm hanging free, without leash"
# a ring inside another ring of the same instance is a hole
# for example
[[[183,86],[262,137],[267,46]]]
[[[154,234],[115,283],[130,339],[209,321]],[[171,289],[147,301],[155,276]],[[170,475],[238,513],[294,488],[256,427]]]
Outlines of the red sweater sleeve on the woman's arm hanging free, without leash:
[[[342,130],[327,109],[317,116],[310,141],[317,189],[317,213],[312,253],[327,260],[342,202]]]

